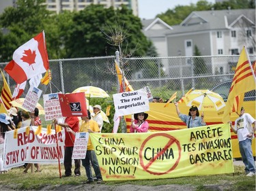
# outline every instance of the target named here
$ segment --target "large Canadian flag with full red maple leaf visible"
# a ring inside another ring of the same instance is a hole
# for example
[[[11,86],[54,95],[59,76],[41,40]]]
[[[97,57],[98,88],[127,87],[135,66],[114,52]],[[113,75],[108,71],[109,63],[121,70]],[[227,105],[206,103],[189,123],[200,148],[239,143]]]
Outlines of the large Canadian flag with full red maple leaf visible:
[[[17,84],[49,69],[44,31],[15,50],[5,71]]]

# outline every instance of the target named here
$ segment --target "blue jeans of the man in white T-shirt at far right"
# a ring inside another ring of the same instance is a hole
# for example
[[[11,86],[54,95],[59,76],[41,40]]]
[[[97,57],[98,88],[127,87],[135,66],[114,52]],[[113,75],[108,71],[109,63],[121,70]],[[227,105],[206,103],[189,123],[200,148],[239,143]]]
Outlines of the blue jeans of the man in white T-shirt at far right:
[[[251,139],[245,139],[239,142],[239,150],[242,156],[242,162],[244,162],[246,173],[255,173],[255,162],[253,158],[253,151],[251,148]]]

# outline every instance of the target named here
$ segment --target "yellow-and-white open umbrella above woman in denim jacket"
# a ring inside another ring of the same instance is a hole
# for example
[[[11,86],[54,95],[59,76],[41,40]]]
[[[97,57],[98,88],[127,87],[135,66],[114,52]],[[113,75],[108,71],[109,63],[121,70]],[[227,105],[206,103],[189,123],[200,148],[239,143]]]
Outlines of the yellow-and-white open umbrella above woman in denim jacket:
[[[225,107],[220,94],[210,90],[193,90],[184,98],[187,106],[196,105],[200,111],[218,111]]]

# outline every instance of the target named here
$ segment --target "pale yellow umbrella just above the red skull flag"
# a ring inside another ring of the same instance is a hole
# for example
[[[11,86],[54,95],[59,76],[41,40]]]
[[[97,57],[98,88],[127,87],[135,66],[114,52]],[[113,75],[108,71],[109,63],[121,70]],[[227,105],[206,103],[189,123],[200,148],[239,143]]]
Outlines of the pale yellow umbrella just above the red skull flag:
[[[85,97],[109,97],[109,94],[107,94],[102,88],[98,88],[95,86],[83,86],[80,88],[77,88],[73,91],[73,93],[77,92],[85,92]]]

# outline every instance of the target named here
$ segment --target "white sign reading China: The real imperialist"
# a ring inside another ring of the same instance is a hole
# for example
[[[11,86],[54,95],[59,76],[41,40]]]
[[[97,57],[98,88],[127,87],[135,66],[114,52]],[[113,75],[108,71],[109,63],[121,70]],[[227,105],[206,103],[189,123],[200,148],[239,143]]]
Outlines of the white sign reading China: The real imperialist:
[[[143,89],[113,94],[113,99],[117,116],[126,116],[150,110],[147,92]]]

